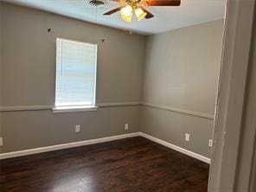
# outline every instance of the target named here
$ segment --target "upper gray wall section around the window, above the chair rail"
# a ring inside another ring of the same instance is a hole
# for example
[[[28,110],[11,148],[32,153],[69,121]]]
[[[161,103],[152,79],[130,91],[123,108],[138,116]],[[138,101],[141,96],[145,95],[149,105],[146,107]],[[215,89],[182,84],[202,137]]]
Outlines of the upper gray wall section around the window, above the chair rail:
[[[143,35],[8,3],[3,6],[3,102],[54,105],[56,37],[98,43],[97,102],[140,101]],[[48,33],[48,28],[52,29]],[[101,42],[105,39],[105,42]]]

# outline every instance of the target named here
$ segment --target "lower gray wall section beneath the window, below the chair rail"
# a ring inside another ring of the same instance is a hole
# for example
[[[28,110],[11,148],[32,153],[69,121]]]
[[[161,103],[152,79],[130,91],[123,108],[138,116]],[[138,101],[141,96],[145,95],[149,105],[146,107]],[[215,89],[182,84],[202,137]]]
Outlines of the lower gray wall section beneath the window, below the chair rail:
[[[102,107],[96,112],[3,112],[2,152],[105,138],[138,131],[140,106]],[[130,130],[124,131],[124,124]],[[81,125],[80,133],[74,125]]]

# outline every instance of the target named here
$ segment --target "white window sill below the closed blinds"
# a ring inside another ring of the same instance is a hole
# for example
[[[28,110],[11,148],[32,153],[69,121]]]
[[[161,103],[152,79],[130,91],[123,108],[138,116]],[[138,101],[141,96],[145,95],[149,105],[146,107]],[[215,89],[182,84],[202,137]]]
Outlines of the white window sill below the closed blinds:
[[[55,106],[53,112],[90,112],[97,111],[99,106]]]

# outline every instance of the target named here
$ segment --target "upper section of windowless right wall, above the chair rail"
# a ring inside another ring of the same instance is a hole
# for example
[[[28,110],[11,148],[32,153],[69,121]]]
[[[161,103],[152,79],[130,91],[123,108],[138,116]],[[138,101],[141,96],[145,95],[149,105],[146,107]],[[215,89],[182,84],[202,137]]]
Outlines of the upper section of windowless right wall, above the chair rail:
[[[144,102],[214,114],[223,20],[147,39]]]

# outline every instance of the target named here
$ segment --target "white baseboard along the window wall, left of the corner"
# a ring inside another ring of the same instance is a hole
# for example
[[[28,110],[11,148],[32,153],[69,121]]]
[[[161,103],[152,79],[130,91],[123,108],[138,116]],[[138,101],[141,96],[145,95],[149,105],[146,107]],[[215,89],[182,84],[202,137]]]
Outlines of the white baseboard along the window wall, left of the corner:
[[[12,157],[21,157],[21,156],[27,156],[27,155],[32,155],[32,154],[37,154],[37,153],[42,153],[42,152],[48,152],[52,150],[64,150],[67,148],[72,148],[72,147],[79,147],[79,146],[84,146],[88,144],[99,144],[107,141],[113,141],[113,140],[118,140],[122,138],[132,138],[139,136],[139,132],[132,132],[128,134],[123,134],[123,135],[117,135],[117,136],[112,136],[112,137],[107,137],[107,138],[95,138],[95,139],[90,139],[90,140],[85,140],[85,141],[79,141],[79,142],[73,142],[73,143],[68,143],[68,144],[56,144],[48,147],[40,147],[40,148],[35,148],[35,149],[30,149],[30,150],[18,150],[14,152],[8,152],[8,153],[2,153],[0,154],[0,159],[6,159],[6,158],[12,158]]]

